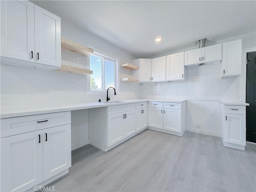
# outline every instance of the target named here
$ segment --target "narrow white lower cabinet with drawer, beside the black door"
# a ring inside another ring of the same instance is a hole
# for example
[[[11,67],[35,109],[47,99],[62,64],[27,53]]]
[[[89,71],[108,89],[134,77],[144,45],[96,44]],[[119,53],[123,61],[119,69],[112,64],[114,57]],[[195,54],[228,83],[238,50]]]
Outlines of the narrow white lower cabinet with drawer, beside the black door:
[[[242,149],[246,146],[246,106],[222,104],[222,142]]]

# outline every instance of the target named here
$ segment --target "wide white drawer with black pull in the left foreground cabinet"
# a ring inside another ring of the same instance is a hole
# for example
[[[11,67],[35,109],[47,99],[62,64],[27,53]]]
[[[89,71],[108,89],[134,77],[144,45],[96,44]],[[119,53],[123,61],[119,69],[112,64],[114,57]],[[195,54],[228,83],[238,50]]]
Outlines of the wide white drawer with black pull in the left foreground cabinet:
[[[70,123],[70,111],[1,119],[1,138]]]

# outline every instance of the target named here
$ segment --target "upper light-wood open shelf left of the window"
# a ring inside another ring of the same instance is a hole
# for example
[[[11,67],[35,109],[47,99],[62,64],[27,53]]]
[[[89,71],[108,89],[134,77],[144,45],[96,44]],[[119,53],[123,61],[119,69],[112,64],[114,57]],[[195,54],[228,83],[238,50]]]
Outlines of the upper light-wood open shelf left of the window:
[[[93,53],[92,49],[64,38],[61,38],[61,48],[84,56],[89,56]]]

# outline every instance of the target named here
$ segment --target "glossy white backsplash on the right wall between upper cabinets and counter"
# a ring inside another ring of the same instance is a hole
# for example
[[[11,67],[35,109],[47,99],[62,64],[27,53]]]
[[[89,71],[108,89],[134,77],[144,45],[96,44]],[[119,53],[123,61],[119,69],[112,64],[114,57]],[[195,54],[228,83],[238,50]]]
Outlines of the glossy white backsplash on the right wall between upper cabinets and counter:
[[[142,84],[143,99],[239,100],[239,77],[220,78],[220,64],[185,68],[186,80]]]

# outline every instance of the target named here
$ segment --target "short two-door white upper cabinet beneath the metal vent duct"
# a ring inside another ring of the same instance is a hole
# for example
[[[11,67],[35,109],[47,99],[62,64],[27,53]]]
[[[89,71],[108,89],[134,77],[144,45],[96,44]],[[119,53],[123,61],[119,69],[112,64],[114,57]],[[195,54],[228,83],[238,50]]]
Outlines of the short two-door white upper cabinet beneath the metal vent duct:
[[[222,60],[222,44],[185,51],[185,66],[198,66],[200,63],[220,63]]]

